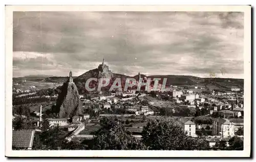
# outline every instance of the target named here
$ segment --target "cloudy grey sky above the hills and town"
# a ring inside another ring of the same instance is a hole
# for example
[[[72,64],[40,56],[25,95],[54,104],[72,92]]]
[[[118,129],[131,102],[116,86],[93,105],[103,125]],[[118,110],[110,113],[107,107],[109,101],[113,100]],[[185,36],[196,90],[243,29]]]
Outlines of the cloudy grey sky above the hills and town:
[[[13,77],[244,77],[242,12],[13,12]]]

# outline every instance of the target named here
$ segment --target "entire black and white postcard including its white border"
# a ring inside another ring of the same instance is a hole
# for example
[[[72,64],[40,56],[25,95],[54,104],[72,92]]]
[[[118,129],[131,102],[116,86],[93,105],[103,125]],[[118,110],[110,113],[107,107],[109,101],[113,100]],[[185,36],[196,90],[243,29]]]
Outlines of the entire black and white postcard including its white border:
[[[250,156],[250,6],[6,8],[7,156]]]

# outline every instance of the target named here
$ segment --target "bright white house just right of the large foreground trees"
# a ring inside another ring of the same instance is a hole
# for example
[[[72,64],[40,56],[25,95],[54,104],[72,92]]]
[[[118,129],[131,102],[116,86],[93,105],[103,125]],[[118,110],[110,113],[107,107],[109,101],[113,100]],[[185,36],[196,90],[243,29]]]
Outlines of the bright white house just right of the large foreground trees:
[[[185,118],[181,118],[180,124],[188,136],[197,137],[196,124],[194,122]]]

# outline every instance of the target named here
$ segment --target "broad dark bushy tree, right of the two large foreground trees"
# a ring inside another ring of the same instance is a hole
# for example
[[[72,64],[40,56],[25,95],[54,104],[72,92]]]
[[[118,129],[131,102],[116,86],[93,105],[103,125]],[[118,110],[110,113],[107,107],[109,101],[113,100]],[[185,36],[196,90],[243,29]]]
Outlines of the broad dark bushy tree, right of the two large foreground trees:
[[[142,130],[142,142],[149,150],[206,150],[203,140],[185,134],[172,120],[150,120]]]

